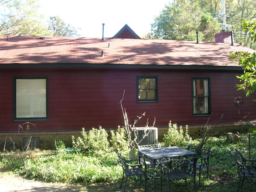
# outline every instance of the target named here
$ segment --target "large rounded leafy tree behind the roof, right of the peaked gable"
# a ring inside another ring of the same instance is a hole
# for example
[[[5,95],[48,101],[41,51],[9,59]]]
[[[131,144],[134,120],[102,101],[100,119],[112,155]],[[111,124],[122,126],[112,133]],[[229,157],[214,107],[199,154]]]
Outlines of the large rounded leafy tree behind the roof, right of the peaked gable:
[[[199,1],[174,1],[154,19],[151,36],[157,39],[194,41],[196,31],[200,31],[202,41],[213,41],[220,27],[210,14],[203,12],[204,4]]]

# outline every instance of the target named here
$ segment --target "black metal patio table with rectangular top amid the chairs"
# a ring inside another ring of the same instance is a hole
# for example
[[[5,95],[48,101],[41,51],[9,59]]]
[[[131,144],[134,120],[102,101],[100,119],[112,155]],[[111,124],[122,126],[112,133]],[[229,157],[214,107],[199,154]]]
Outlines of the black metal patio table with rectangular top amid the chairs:
[[[195,155],[195,152],[180,148],[180,147],[166,147],[166,148],[149,148],[138,150],[139,159],[143,159],[145,161],[149,161],[153,167],[153,176],[154,176],[154,192],[156,191],[156,168],[159,164],[163,163],[166,160],[170,160],[172,158]]]

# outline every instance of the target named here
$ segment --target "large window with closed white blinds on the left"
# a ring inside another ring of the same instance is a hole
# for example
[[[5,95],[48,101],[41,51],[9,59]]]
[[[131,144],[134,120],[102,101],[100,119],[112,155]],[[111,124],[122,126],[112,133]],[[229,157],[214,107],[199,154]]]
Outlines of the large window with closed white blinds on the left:
[[[16,79],[16,118],[46,117],[46,79]]]

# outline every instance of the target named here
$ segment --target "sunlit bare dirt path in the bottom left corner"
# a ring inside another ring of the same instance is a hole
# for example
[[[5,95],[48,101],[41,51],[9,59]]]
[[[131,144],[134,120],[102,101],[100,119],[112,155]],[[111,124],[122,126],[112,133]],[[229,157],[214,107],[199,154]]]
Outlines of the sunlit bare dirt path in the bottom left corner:
[[[0,172],[1,192],[87,192],[83,186],[26,180],[10,172]]]

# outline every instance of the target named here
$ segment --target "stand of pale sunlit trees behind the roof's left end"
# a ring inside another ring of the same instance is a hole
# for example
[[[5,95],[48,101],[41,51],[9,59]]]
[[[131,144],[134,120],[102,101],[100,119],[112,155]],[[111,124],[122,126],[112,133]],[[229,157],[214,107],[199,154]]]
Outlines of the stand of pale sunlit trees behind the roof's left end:
[[[38,8],[38,0],[0,0],[0,35],[78,36],[58,16],[47,23]]]

